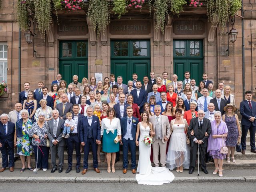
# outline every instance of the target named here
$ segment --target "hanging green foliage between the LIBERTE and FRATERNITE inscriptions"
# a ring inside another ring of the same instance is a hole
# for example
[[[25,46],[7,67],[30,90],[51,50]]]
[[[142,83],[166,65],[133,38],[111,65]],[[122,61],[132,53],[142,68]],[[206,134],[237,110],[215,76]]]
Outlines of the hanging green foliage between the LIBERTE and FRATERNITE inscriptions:
[[[87,16],[92,22],[94,31],[100,36],[100,31],[105,33],[110,21],[110,3],[108,0],[90,0]]]

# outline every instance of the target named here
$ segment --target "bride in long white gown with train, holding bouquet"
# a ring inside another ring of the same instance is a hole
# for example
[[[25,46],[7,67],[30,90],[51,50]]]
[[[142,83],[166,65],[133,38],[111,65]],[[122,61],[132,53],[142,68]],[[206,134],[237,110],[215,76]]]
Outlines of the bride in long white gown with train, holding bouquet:
[[[144,185],[162,185],[174,180],[174,175],[166,167],[152,167],[150,162],[151,144],[146,146],[142,140],[149,136],[153,131],[152,124],[149,122],[147,112],[142,113],[142,122],[138,123],[136,132],[136,146],[139,146],[140,156],[137,167],[136,180],[138,184]],[[138,136],[140,135],[139,141]]]

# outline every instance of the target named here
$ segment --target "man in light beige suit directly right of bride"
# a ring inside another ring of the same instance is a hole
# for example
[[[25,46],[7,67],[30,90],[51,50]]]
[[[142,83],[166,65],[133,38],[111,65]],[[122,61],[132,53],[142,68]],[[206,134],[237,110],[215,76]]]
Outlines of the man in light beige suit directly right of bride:
[[[150,122],[153,125],[153,131],[150,135],[153,136],[153,162],[155,167],[159,166],[158,154],[160,148],[160,163],[162,167],[166,164],[166,145],[170,138],[170,123],[167,116],[161,115],[161,106],[155,105],[155,115],[150,117]]]

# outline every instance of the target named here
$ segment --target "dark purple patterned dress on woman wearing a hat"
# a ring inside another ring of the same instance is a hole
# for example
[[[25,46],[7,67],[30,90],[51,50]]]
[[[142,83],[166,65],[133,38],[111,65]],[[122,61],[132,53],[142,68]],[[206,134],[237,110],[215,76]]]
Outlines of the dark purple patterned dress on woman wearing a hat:
[[[232,117],[225,115],[225,122],[228,127],[228,136],[226,138],[226,146],[235,147],[238,140],[238,128],[236,125],[236,117],[234,115]]]

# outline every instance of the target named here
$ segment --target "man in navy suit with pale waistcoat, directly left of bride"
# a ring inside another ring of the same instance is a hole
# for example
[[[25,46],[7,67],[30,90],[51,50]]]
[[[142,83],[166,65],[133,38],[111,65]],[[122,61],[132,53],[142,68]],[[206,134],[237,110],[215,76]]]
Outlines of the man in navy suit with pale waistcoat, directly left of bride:
[[[128,149],[130,148],[132,156],[132,173],[136,174],[136,130],[138,119],[133,117],[133,109],[131,106],[126,108],[127,116],[121,119],[121,131],[123,145],[123,173],[126,174],[128,167]]]

